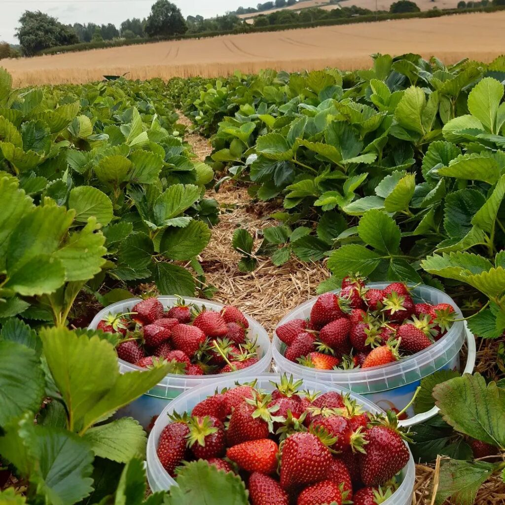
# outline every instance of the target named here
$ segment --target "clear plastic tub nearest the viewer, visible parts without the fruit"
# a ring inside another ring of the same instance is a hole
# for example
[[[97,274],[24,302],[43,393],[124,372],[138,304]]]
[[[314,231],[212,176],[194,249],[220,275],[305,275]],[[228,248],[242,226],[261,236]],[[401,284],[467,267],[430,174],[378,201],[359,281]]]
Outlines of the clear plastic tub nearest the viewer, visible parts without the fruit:
[[[262,374],[259,376],[249,375],[248,377],[243,377],[240,380],[241,382],[250,382],[255,379],[258,380],[258,387],[267,391],[273,391],[274,387],[270,381],[279,382],[280,376],[276,374]],[[170,475],[162,467],[160,460],[156,454],[156,448],[160,434],[165,426],[167,426],[167,424],[170,422],[168,414],[172,414],[173,412],[182,414],[183,412],[191,411],[196,403],[214,394],[216,388],[220,389],[224,387],[233,387],[234,385],[235,382],[232,378],[227,378],[222,381],[215,381],[211,384],[201,385],[199,387],[191,389],[191,391],[187,391],[184,394],[181,394],[163,410],[147,440],[147,481],[153,492],[170,489],[172,486],[177,485],[175,480],[170,477]],[[348,392],[347,389],[339,386],[335,387],[329,382],[325,383],[311,379],[304,379],[302,389],[308,389],[309,391],[321,391],[322,393],[327,391],[338,391],[341,393]],[[372,413],[383,412],[363,396],[355,393],[350,393],[350,395],[352,398],[356,398],[356,400],[358,400],[360,405],[362,405],[365,410]],[[384,501],[382,505],[411,505],[415,478],[416,470],[414,459],[411,455],[409,462],[400,472],[399,480],[401,483],[398,489],[390,498]]]

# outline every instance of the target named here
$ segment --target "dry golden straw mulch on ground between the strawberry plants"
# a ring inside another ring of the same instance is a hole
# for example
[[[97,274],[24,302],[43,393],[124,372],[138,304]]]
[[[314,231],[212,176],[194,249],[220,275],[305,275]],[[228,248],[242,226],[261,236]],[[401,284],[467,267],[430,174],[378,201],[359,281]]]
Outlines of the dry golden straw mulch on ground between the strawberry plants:
[[[190,126],[182,114],[180,122]],[[212,148],[208,140],[189,132],[185,139],[193,146],[198,159],[205,160]],[[261,242],[258,230],[268,224],[275,207],[264,203],[251,203],[247,190],[233,183],[225,183],[216,198],[221,207],[219,223],[214,227],[212,239],[201,255],[207,282],[216,286],[214,299],[232,303],[259,321],[272,334],[277,323],[293,308],[316,295],[318,284],[329,275],[324,263],[302,263],[295,259],[282,267],[276,267],[269,259],[258,258],[254,272],[243,273],[238,269],[240,255],[232,245],[236,228],[247,229],[255,237],[255,246]],[[496,364],[497,345],[481,345],[478,357],[482,366],[477,370],[489,372]],[[434,505],[438,486],[440,459],[433,465],[416,465],[416,483],[413,505]],[[448,503],[448,502],[447,502]],[[479,490],[477,505],[505,505],[505,484],[496,476]]]

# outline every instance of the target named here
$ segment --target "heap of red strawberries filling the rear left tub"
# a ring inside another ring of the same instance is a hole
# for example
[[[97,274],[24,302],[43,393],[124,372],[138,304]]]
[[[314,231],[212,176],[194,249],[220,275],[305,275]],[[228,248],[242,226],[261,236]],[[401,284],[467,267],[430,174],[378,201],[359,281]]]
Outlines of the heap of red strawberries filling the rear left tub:
[[[147,297],[130,313],[109,315],[98,329],[121,335],[118,357],[138,367],[170,363],[170,373],[208,375],[235,372],[258,362],[249,323],[231,305],[221,312],[198,310],[181,299],[167,312],[156,297]]]

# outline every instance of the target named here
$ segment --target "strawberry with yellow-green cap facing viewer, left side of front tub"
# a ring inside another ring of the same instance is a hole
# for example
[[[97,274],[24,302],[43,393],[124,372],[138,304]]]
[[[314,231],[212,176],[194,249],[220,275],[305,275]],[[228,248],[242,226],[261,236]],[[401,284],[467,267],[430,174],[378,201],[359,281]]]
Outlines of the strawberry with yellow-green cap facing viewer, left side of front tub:
[[[187,444],[196,459],[220,458],[226,451],[223,423],[215,417],[192,417],[188,423]]]

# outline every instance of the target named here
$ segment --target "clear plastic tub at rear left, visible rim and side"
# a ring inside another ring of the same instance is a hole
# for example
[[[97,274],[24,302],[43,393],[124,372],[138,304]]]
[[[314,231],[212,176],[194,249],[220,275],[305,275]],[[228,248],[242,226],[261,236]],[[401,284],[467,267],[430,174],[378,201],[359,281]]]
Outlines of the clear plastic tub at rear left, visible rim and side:
[[[176,296],[158,296],[158,299],[162,302],[165,309],[173,307],[176,305],[178,298]],[[200,298],[188,298],[184,297],[184,300],[188,304],[194,304],[196,307],[206,307],[210,310],[220,311],[223,305],[217,304],[213,301],[203,300]],[[119,301],[116,304],[106,307],[100,311],[89,325],[90,329],[96,329],[98,323],[106,317],[108,314],[122,314],[126,312],[131,312],[131,309],[140,301],[140,298],[130,298],[128,300]],[[230,378],[231,381],[243,380],[242,377],[249,375],[258,375],[270,370],[272,364],[272,346],[270,343],[270,338],[268,333],[265,331],[263,326],[260,325],[254,319],[248,317],[249,322],[249,338],[258,339],[258,355],[260,360],[258,363],[251,365],[243,370],[238,370],[236,372],[230,372],[229,374],[223,374],[219,377],[222,380]],[[136,367],[131,363],[118,359],[119,371],[121,373],[142,371],[143,368]],[[135,418],[144,428],[146,428],[151,419],[154,416],[160,414],[160,412],[167,406],[171,400],[179,396],[181,393],[200,384],[208,384],[214,382],[218,376],[216,375],[177,375],[168,374],[156,387],[149,389],[145,394],[137,398],[135,401],[131,402],[129,405],[121,409],[118,412],[119,416],[131,416]]]

